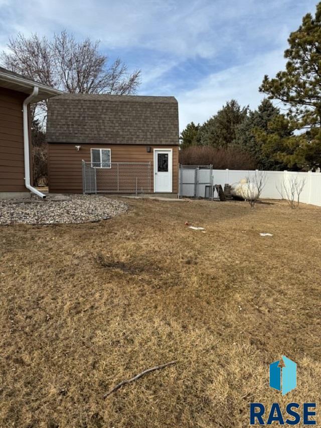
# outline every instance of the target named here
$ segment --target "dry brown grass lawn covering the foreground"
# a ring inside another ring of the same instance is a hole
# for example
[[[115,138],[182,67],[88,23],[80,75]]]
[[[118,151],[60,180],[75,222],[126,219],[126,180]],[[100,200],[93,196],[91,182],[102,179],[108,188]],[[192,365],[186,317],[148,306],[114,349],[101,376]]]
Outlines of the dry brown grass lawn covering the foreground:
[[[248,426],[250,401],[318,402],[321,209],[129,205],[0,228],[0,426],[228,428]],[[282,354],[298,365],[284,397],[268,387]]]

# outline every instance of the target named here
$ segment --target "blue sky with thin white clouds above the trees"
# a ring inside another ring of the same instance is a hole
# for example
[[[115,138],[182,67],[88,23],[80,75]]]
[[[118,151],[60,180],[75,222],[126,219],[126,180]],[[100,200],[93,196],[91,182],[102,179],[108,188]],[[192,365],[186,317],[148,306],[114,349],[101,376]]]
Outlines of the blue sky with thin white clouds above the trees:
[[[142,70],[140,95],[174,95],[180,128],[235,98],[255,108],[264,74],[284,67],[289,33],[316,0],[0,0],[0,49],[9,36],[66,28],[101,40],[111,59]]]

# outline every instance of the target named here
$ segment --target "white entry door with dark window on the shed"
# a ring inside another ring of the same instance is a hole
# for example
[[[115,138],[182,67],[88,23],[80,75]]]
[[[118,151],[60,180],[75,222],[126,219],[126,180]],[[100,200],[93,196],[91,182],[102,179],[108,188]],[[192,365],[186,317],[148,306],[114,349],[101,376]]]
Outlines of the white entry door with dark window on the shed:
[[[172,150],[154,149],[154,192],[172,192]]]

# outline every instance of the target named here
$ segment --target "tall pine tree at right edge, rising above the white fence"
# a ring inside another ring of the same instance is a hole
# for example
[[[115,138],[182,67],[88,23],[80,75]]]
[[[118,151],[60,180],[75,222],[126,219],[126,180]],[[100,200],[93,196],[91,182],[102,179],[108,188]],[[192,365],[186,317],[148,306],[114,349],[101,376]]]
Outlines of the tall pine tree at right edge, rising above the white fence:
[[[288,43],[284,53],[288,59],[285,70],[272,79],[265,76],[260,90],[289,106],[286,127],[296,132],[291,138],[285,137],[283,154],[278,152],[277,135],[280,136],[282,126],[284,129],[285,119],[276,121],[274,125],[279,124],[281,129],[275,129],[275,138],[269,137],[266,144],[270,150],[274,141],[275,156],[290,168],[320,167],[321,2],[316,6],[315,17],[305,15],[298,30],[290,34]]]

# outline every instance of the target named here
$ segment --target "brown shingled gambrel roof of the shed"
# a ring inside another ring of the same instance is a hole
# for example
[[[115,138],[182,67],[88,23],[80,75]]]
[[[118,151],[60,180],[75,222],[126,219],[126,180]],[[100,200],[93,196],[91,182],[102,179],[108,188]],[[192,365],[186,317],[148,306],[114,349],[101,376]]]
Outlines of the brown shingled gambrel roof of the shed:
[[[51,98],[48,142],[178,145],[175,97],[64,94]]]

